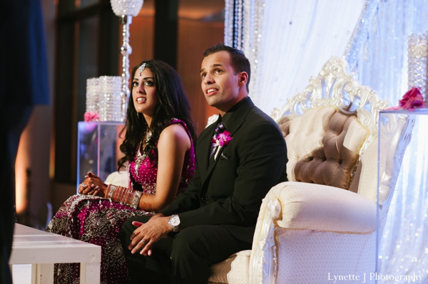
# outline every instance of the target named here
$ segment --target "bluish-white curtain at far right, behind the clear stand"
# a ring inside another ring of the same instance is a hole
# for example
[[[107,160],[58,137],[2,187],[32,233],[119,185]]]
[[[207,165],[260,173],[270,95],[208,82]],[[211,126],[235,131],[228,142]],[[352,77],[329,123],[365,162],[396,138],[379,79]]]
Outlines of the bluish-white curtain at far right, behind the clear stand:
[[[389,0],[379,2],[370,21],[366,52],[358,61],[360,82],[393,105],[408,90],[407,37],[427,33],[427,19],[427,0]],[[420,157],[427,148],[424,127],[415,126],[404,156],[379,243],[377,269],[383,275],[420,275],[420,283],[428,282],[428,159]]]

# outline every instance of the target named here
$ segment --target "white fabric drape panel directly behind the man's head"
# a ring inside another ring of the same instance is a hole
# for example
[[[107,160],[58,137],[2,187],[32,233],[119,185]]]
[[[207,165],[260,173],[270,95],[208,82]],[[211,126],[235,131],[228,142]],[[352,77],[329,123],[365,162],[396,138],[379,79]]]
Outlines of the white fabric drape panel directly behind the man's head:
[[[252,66],[250,97],[270,114],[303,90],[331,56],[344,54],[365,1],[253,2],[243,5],[254,20],[243,25],[238,48]]]

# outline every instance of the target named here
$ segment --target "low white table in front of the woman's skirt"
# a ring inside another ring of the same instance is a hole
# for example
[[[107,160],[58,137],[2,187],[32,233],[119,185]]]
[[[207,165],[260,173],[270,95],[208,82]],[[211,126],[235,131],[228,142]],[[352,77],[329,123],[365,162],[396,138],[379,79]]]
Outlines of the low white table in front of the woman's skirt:
[[[101,246],[16,223],[11,270],[14,264],[31,264],[31,284],[51,284],[54,263],[81,263],[80,283],[100,283]]]

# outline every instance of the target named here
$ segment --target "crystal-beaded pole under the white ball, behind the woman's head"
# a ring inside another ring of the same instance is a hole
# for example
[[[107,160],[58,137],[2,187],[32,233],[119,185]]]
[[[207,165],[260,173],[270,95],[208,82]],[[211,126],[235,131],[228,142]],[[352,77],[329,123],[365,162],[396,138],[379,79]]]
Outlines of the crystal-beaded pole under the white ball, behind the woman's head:
[[[121,22],[122,22],[122,36],[123,36],[123,42],[121,46],[121,55],[122,57],[122,91],[121,91],[121,121],[125,121],[126,117],[126,109],[128,104],[128,96],[129,96],[129,88],[128,88],[128,81],[129,81],[129,55],[132,53],[132,48],[129,45],[129,25],[132,23],[132,16],[121,16]]]

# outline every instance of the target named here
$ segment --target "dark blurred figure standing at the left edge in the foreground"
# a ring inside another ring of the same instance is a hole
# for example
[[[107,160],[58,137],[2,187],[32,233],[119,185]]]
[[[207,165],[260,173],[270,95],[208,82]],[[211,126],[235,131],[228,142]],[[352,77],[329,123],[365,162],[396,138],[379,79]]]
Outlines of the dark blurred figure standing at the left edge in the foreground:
[[[49,86],[40,0],[1,1],[1,11],[0,283],[9,284],[19,137],[33,105],[49,103]]]

